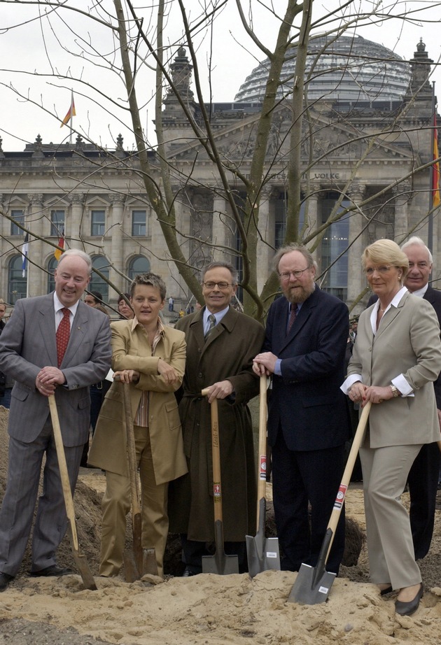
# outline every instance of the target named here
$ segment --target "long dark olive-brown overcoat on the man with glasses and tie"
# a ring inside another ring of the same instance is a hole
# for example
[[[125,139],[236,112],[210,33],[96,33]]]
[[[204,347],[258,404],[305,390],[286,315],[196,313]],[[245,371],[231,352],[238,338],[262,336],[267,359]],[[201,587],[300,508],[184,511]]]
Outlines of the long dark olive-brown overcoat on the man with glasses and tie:
[[[230,308],[204,342],[203,309],[176,327],[186,332],[187,362],[179,414],[189,474],[169,487],[170,531],[189,539],[214,540],[211,416],[203,388],[228,379],[235,397],[219,399],[219,434],[225,540],[244,541],[255,534],[257,481],[251,414],[246,405],[258,394],[252,362],[265,330],[258,322]]]

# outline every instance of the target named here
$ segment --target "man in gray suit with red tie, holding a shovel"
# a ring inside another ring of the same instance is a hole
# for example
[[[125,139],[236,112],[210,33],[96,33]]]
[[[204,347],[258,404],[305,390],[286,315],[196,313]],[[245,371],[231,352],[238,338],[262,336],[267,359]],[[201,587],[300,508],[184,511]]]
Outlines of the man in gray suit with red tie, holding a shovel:
[[[1,334],[0,370],[16,382],[8,426],[8,481],[0,510],[0,591],[20,569],[43,455],[43,494],[32,540],[31,576],[70,572],[57,567],[55,560],[67,520],[48,396],[55,393],[57,400],[73,491],[90,426],[89,386],[102,381],[111,364],[109,316],[80,300],[91,271],[86,253],[66,251],[55,270],[55,292],[18,300]]]

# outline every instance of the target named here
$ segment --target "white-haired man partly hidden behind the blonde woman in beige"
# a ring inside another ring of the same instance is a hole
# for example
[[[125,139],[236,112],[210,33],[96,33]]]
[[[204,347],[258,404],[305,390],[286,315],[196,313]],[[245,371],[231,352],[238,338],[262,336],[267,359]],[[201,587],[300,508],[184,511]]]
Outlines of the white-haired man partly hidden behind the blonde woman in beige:
[[[422,239],[416,236],[411,237],[403,244],[401,250],[404,251],[409,260],[409,271],[407,271],[403,284],[409,292],[430,302],[441,325],[441,292],[433,289],[428,284],[433,267],[430,250],[428,250]],[[376,294],[372,295],[367,306],[377,302],[377,299]],[[440,375],[438,375],[433,385],[438,420],[441,425]],[[441,453],[437,442],[423,444],[407,478],[410,496],[410,527],[412,528],[416,560],[421,560],[427,555],[432,541],[440,466]]]

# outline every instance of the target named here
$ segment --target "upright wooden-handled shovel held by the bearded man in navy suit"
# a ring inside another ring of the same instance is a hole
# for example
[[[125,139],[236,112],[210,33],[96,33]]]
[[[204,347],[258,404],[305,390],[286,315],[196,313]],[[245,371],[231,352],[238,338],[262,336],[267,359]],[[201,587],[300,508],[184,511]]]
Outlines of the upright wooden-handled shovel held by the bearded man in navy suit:
[[[268,569],[280,569],[279,539],[265,538],[265,518],[267,500],[265,489],[267,485],[267,377],[260,376],[259,401],[259,479],[258,479],[258,514],[257,534],[255,537],[246,535],[246,555],[248,557],[248,572],[253,578]]]

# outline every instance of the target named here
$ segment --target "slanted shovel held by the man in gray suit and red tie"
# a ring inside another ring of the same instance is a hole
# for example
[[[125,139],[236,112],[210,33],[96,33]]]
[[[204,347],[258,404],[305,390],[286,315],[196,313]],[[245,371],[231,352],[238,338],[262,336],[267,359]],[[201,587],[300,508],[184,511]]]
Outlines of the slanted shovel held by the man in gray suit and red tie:
[[[97,585],[95,584],[94,577],[92,576],[92,572],[90,571],[86,557],[85,555],[80,555],[80,551],[78,549],[78,534],[76,532],[75,510],[73,509],[71,484],[69,482],[69,474],[67,473],[66,455],[64,453],[61,428],[59,427],[57,402],[55,401],[55,395],[53,394],[51,394],[48,398],[50,418],[52,420],[52,430],[55,439],[55,448],[57,449],[59,476],[62,481],[64,504],[66,504],[66,515],[67,519],[69,520],[69,533],[71,537],[73,559],[75,560],[78,571],[80,572],[84,588],[96,590]]]

